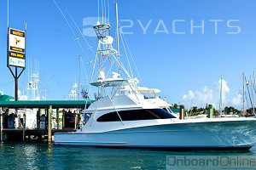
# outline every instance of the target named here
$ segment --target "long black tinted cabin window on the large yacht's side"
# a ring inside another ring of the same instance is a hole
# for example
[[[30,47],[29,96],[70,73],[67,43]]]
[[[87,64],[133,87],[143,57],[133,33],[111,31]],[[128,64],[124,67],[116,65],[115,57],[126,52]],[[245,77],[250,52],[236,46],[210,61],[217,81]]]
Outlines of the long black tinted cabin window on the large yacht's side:
[[[162,109],[119,111],[119,116],[123,121],[176,118],[172,114]],[[116,111],[110,112],[106,115],[100,116],[97,119],[97,122],[120,121],[119,116]]]

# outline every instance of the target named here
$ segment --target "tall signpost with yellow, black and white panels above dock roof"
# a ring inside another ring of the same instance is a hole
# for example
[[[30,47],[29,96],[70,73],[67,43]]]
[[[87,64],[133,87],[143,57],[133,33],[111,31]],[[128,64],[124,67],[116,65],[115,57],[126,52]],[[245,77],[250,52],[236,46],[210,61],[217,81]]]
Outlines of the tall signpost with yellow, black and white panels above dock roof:
[[[15,77],[15,100],[18,100],[18,79],[26,69],[26,31],[8,28],[7,66]],[[10,66],[15,67],[15,73]],[[22,68],[19,75],[18,67]]]

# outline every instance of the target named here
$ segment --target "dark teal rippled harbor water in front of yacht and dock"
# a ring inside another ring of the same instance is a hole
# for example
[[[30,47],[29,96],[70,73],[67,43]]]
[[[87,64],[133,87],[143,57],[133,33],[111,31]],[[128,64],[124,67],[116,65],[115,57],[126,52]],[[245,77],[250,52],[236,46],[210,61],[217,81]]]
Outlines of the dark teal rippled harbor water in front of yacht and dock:
[[[0,143],[0,169],[166,169],[167,156],[256,156],[251,150],[148,150]],[[168,168],[167,168],[168,169]],[[176,167],[175,169],[180,169]],[[183,168],[181,168],[183,169]],[[190,168],[184,168],[190,169]],[[197,166],[195,169],[206,169]],[[207,167],[207,169],[216,169]],[[230,168],[229,168],[230,169]],[[237,169],[237,168],[236,168]],[[239,168],[238,168],[239,169]],[[251,169],[251,168],[247,168]],[[255,167],[253,168],[255,169]]]

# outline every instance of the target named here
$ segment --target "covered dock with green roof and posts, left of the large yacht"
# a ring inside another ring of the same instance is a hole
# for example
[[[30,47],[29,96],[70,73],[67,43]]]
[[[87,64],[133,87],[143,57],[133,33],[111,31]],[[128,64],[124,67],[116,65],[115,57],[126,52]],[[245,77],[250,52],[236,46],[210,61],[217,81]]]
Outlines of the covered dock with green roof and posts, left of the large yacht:
[[[92,102],[84,100],[0,101],[0,140],[52,142],[54,133],[74,132],[81,127],[82,111]]]

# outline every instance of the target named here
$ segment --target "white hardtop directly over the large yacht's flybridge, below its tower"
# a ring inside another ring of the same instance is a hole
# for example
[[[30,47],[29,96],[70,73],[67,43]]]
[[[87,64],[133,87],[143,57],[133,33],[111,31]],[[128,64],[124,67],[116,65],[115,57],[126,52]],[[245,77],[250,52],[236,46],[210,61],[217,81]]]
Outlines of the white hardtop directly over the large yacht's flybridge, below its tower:
[[[123,79],[123,78],[108,78],[106,80],[91,82],[90,85],[95,87],[120,87],[120,86],[130,86],[130,84],[137,83],[137,79]]]

